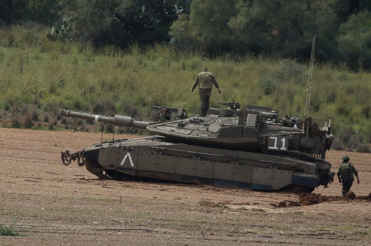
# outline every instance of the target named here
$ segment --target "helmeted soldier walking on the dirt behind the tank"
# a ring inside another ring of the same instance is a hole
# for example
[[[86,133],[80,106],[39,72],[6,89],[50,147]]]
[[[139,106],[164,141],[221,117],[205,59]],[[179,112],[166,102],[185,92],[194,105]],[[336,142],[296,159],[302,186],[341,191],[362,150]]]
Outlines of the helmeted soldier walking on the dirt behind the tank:
[[[338,172],[336,174],[338,175],[339,182],[342,183],[342,190],[341,193],[343,196],[345,196],[352,187],[354,176],[357,177],[357,184],[359,185],[359,178],[358,178],[358,171],[355,169],[353,164],[351,164],[350,158],[347,155],[344,155],[342,157],[343,163],[340,165]],[[354,173],[354,176],[353,176]]]

